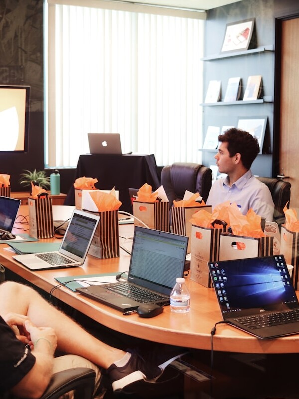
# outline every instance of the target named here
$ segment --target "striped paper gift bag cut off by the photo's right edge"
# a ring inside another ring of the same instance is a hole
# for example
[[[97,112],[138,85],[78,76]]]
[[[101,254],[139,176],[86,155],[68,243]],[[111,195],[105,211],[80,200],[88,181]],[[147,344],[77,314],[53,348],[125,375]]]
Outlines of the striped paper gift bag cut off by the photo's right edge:
[[[290,231],[283,224],[281,229],[280,253],[284,255],[286,263],[293,265],[293,286],[299,290],[299,233]]]

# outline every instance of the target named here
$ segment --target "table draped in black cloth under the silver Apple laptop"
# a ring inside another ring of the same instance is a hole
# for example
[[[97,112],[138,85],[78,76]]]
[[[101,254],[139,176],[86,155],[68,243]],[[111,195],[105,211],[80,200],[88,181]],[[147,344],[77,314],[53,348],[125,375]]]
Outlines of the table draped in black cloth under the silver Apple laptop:
[[[160,186],[155,157],[151,155],[80,155],[75,171],[74,181],[79,177],[98,179],[97,189],[119,191],[122,202],[120,210],[132,213],[128,188],[139,189],[145,183],[156,190]],[[70,188],[65,205],[75,204],[74,187]]]

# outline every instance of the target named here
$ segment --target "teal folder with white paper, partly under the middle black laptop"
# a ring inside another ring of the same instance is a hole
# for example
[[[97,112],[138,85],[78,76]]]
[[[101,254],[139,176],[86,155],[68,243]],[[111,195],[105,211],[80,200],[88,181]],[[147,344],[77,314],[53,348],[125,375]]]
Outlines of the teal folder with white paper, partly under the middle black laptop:
[[[94,285],[94,284],[105,284],[105,283],[116,283],[115,278],[111,278],[113,276],[117,276],[119,272],[117,273],[101,273],[101,274],[84,274],[83,276],[68,276],[68,277],[55,277],[55,280],[57,280],[59,283],[62,283],[65,287],[69,288],[72,291],[76,291],[76,288],[82,288],[82,283],[84,282],[87,285]],[[126,279],[128,276],[127,273],[124,273],[122,277]],[[107,278],[105,278],[107,277]],[[110,277],[110,278],[109,278]],[[75,280],[81,280],[80,281],[75,281]]]

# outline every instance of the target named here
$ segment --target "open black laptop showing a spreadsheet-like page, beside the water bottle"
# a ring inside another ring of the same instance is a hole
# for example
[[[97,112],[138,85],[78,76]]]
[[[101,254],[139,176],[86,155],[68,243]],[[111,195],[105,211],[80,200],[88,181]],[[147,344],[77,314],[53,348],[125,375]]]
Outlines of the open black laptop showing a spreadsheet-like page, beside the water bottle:
[[[168,305],[176,278],[183,276],[187,245],[188,237],[183,235],[136,226],[128,282],[91,285],[77,291],[122,312],[135,310],[145,302]],[[145,293],[141,300],[130,298],[121,291],[127,284],[130,291],[146,289],[158,298],[145,300]]]

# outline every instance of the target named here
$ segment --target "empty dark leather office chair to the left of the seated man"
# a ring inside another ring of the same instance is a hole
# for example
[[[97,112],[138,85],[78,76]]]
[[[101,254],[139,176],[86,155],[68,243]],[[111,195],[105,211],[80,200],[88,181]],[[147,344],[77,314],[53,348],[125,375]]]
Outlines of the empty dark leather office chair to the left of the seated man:
[[[174,200],[182,200],[186,190],[199,193],[206,201],[212,186],[212,170],[192,162],[175,162],[162,169],[161,185],[170,206]]]

